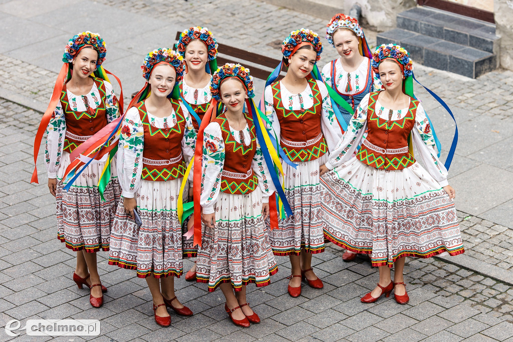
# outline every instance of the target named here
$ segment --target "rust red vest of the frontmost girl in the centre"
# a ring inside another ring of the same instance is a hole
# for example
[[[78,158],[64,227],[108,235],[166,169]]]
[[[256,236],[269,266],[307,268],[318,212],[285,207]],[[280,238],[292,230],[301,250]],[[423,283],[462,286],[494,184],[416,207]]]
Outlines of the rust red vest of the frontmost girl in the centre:
[[[230,132],[225,114],[216,117],[214,122],[221,126],[221,133],[225,142],[225,160],[221,174],[221,191],[231,194],[247,194],[258,186],[257,175],[253,173],[251,162],[257,152],[257,138],[253,120],[246,115],[251,143],[246,146],[241,137],[238,143]]]

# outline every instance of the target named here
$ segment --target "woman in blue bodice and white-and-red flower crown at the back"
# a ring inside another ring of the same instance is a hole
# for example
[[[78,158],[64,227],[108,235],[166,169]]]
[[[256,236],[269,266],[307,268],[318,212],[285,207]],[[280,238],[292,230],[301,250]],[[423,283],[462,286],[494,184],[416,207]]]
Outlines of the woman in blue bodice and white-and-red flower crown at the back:
[[[326,25],[326,39],[337,49],[340,58],[327,63],[321,75],[352,109],[349,112],[348,108],[338,105],[343,118],[342,130],[346,131],[354,109],[369,92],[381,89],[381,81],[372,71],[372,53],[357,19],[342,13],[334,15]],[[356,256],[357,253],[346,251],[342,259],[352,261]]]

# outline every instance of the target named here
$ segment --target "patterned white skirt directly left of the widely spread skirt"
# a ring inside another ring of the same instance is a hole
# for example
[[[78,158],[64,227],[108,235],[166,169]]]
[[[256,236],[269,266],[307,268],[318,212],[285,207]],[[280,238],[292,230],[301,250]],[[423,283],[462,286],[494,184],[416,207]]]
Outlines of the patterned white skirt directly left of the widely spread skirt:
[[[269,231],[274,255],[299,255],[301,249],[316,254],[324,252],[324,233],[318,212],[321,210],[319,167],[326,163],[328,155],[309,162],[299,162],[294,169],[282,163],[286,174],[285,196],[294,213],[280,219],[278,228]]]

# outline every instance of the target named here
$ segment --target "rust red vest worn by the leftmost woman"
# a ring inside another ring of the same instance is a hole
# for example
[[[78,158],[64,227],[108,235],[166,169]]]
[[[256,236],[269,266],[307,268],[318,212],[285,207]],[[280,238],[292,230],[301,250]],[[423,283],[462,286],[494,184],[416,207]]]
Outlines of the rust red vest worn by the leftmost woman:
[[[64,139],[64,151],[73,152],[73,150],[88,138],[107,126],[107,111],[105,108],[105,84],[103,79],[93,77],[94,84],[100,92],[100,98],[94,98],[96,108],[75,112],[68,102],[66,84],[61,92],[61,106],[66,119],[66,137]],[[85,96],[77,96],[85,98]]]

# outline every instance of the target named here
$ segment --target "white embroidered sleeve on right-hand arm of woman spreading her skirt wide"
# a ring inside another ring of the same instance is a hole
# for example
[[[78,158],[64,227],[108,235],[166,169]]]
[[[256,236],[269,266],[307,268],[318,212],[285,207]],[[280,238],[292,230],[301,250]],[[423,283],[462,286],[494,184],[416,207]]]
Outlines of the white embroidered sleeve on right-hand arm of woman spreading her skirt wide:
[[[445,187],[449,184],[447,182],[447,169],[438,159],[435,138],[433,138],[426,112],[420,103],[415,114],[415,128],[411,132],[413,134],[413,144],[417,147],[427,171],[441,187]]]

